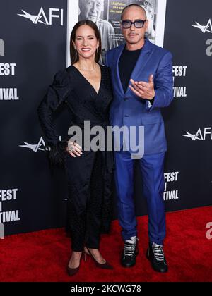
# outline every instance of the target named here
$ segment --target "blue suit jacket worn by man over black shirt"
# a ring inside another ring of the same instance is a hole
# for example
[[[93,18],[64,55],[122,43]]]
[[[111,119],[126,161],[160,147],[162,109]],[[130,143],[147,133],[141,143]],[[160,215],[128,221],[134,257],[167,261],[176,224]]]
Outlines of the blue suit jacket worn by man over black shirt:
[[[163,117],[160,108],[170,105],[173,99],[172,54],[145,39],[145,44],[136,62],[131,78],[134,81],[148,82],[154,75],[155,99],[153,105],[148,100],[141,99],[128,88],[126,93],[119,77],[119,58],[125,44],[107,51],[106,65],[111,68],[114,99],[110,108],[110,123],[112,126],[126,125],[144,126],[144,155],[165,152],[167,142]],[[138,130],[136,130],[136,137]],[[128,135],[121,134],[123,137]],[[126,140],[126,139],[125,139]],[[117,139],[115,138],[116,142]],[[130,152],[132,152],[129,149]]]

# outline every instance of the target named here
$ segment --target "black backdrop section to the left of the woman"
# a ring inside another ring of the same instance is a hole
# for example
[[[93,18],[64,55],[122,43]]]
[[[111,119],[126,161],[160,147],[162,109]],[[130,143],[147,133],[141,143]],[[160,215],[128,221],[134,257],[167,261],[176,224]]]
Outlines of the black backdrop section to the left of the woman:
[[[64,225],[63,171],[49,171],[37,106],[66,67],[66,0],[0,3],[0,221],[5,234]],[[56,121],[66,122],[66,110]]]

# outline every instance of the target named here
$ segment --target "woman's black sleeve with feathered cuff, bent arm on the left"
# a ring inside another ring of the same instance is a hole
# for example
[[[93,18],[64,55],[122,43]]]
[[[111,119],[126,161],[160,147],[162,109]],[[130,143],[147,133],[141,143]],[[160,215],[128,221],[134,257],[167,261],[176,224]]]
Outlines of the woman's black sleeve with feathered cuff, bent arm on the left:
[[[48,152],[50,164],[64,164],[67,142],[59,141],[59,135],[54,127],[53,113],[66,99],[71,91],[69,74],[66,70],[54,75],[52,85],[49,85],[44,99],[37,108],[38,118],[45,135],[45,150]]]

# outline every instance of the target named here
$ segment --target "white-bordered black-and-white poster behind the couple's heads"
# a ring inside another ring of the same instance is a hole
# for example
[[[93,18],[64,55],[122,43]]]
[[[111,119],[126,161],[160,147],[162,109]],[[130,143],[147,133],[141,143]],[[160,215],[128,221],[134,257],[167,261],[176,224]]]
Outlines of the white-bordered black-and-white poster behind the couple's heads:
[[[68,0],[67,66],[70,65],[71,30],[78,20],[92,20],[98,26],[102,38],[100,63],[104,63],[106,51],[124,43],[120,27],[121,13],[129,4],[139,4],[146,10],[148,19],[146,37],[154,44],[163,47],[166,0]]]

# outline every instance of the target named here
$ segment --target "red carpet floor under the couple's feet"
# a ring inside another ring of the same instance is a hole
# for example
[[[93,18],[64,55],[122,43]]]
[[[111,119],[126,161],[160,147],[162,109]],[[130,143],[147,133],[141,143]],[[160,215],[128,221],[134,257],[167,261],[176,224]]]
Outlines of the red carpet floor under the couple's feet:
[[[212,281],[212,240],[206,238],[206,224],[212,222],[212,207],[167,214],[165,254],[169,272],[155,273],[145,257],[148,245],[147,216],[139,221],[139,256],[136,266],[119,265],[122,239],[117,221],[110,235],[103,235],[101,251],[114,266],[112,271],[95,267],[87,257],[79,273],[66,276],[69,238],[64,229],[11,235],[0,240],[0,281]]]

